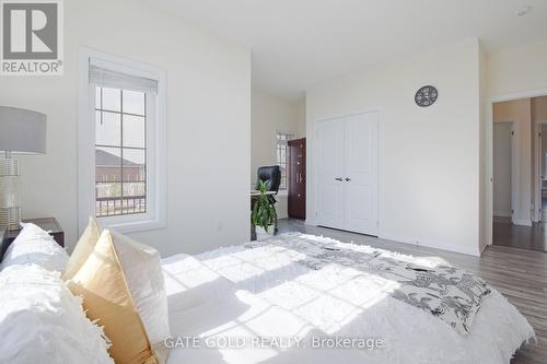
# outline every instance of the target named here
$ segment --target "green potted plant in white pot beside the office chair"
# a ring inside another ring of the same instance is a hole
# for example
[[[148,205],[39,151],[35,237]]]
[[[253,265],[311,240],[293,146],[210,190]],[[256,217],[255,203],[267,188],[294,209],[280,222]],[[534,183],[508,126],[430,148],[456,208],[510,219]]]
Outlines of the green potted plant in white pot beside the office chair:
[[[251,213],[251,224],[255,228],[258,240],[272,236],[276,232],[277,212],[274,202],[267,192],[266,183],[258,183],[259,195],[255,197],[253,212]]]

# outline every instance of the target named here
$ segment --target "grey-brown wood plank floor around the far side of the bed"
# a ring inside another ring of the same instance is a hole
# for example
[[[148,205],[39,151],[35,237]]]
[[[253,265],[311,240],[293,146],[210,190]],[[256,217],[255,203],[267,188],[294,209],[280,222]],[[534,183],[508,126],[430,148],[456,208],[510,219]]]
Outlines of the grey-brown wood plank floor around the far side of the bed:
[[[441,257],[487,280],[500,291],[534,327],[537,343],[519,350],[513,364],[547,363],[547,254],[500,245],[490,245],[480,258],[416,245],[379,239],[368,235],[304,225],[303,221],[279,221],[279,233],[302,232],[328,236],[341,242],[365,244],[412,256]],[[472,363],[470,363],[472,364]]]

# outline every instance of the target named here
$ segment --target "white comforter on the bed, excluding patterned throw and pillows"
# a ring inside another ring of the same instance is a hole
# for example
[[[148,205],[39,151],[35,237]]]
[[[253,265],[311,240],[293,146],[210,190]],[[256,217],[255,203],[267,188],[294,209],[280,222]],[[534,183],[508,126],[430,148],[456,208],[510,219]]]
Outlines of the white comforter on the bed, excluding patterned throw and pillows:
[[[276,238],[287,243],[302,237]],[[472,332],[462,336],[386,294],[396,282],[335,263],[310,270],[296,262],[303,258],[302,253],[272,245],[164,259],[170,343],[175,345],[168,364],[498,364],[509,363],[534,336],[526,319],[496,290],[485,298]],[[400,258],[421,266],[438,263]],[[321,341],[324,337],[338,341]],[[314,348],[319,342],[323,349]]]

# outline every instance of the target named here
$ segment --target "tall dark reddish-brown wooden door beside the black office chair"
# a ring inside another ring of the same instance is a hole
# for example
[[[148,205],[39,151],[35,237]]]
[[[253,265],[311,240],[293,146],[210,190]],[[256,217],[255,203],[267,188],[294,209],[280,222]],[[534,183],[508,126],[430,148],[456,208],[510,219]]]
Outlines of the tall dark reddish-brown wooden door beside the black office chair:
[[[288,142],[289,218],[306,218],[306,139]]]

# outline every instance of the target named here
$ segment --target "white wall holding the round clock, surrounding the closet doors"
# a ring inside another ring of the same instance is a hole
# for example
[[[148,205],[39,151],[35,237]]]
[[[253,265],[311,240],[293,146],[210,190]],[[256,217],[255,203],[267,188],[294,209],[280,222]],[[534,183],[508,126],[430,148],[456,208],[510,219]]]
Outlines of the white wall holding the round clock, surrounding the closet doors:
[[[439,99],[420,108],[414,95],[426,84]],[[380,236],[478,255],[479,91],[475,38],[309,90],[307,223],[315,223],[315,122],[380,109]]]

